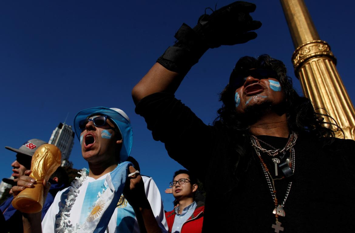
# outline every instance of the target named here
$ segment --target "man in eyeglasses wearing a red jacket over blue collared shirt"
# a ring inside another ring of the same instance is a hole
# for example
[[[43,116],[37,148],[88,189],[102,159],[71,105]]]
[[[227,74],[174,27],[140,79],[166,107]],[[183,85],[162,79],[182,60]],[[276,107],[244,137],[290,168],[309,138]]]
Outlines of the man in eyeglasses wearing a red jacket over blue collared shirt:
[[[170,182],[178,206],[165,213],[169,233],[200,233],[204,205],[196,203],[197,180],[188,170],[178,170]]]

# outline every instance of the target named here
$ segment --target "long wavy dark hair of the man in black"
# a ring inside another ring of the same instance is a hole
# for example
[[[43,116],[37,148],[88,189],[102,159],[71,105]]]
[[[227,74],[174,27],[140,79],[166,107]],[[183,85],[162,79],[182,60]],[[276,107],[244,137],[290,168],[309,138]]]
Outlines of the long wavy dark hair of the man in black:
[[[320,109],[313,108],[310,99],[297,94],[292,86],[291,78],[286,76],[286,67],[280,60],[273,59],[267,54],[263,54],[258,58],[244,56],[237,61],[231,76],[253,68],[269,69],[277,73],[277,79],[285,95],[283,108],[290,131],[299,135],[308,134],[317,138],[332,138],[336,131],[341,130],[331,116],[317,112]],[[217,113],[219,115],[213,121],[213,125],[224,128],[224,131],[228,134],[230,144],[233,145],[231,149],[242,157],[248,150],[244,145],[249,145],[250,143],[250,120],[235,111],[234,95],[235,88],[229,84],[220,93],[219,100],[223,102],[223,105],[218,109]],[[325,111],[324,108],[322,109]],[[334,123],[326,122],[324,116],[333,119]],[[237,156],[238,162],[239,157]]]

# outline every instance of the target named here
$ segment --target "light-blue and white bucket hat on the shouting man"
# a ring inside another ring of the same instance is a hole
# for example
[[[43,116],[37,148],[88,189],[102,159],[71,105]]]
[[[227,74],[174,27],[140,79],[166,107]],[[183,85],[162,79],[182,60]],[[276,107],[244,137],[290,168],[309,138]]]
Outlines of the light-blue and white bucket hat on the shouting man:
[[[79,129],[79,122],[86,119],[88,116],[93,114],[103,114],[109,116],[111,120],[116,124],[122,135],[122,147],[120,152],[120,162],[126,161],[127,157],[131,153],[132,141],[133,141],[133,131],[131,126],[131,121],[127,114],[118,108],[106,108],[106,107],[95,107],[84,109],[76,114],[74,117],[74,129],[77,138],[80,141],[81,129]]]

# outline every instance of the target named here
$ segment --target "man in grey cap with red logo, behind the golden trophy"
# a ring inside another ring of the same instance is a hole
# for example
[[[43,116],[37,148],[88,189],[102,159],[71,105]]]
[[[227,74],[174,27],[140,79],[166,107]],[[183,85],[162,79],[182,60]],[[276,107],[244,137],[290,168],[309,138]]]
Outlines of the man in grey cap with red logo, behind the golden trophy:
[[[20,180],[20,177],[24,175],[24,172],[31,168],[31,160],[35,150],[45,143],[47,142],[39,139],[30,139],[23,143],[18,149],[5,146],[7,150],[16,152],[17,154],[16,160],[11,163],[13,180],[4,178],[3,181],[11,185],[16,185],[17,181]],[[12,200],[13,196],[9,197],[0,206],[0,210],[4,214],[6,220],[6,225],[2,227],[10,232],[22,232],[22,213],[13,208],[11,205]],[[50,201],[51,200],[48,199],[45,202],[45,205],[50,205]],[[47,209],[42,211],[43,216],[46,211]]]

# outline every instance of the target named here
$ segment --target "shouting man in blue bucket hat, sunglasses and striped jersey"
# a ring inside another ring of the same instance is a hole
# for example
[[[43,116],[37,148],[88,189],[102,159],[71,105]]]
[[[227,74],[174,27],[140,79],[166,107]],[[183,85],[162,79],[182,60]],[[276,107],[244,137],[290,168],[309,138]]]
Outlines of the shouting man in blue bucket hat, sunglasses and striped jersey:
[[[56,195],[42,221],[43,232],[167,232],[156,184],[125,162],[133,136],[126,113],[85,109],[76,114],[74,129],[89,169],[82,169],[81,177]],[[30,184],[27,176],[18,182]],[[28,215],[24,228],[38,232],[35,219]]]

